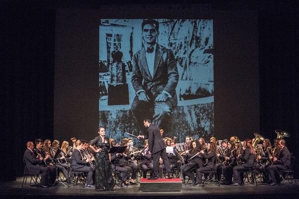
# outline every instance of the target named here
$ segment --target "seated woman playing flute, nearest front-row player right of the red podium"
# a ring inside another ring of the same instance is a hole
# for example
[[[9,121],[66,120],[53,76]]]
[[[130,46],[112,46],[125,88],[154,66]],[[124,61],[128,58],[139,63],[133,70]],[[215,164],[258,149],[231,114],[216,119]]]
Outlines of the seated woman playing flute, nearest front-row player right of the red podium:
[[[185,184],[185,176],[188,176],[192,183],[195,183],[195,177],[193,171],[201,168],[202,159],[199,157],[199,152],[202,150],[202,145],[199,144],[197,140],[191,141],[190,145],[193,147],[191,152],[186,151],[186,159],[190,159],[190,162],[186,165],[181,166],[182,181]]]

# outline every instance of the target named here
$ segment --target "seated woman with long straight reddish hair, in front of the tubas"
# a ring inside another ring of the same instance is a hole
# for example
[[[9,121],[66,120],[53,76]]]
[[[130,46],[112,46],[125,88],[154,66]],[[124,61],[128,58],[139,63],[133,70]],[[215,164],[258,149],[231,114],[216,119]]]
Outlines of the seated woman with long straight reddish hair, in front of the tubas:
[[[244,171],[251,170],[254,165],[254,160],[256,159],[256,153],[252,147],[251,139],[245,139],[243,145],[246,149],[243,154],[239,154],[237,158],[239,158],[244,163],[233,168],[234,184],[232,186],[242,185],[243,175],[241,174],[243,174]]]

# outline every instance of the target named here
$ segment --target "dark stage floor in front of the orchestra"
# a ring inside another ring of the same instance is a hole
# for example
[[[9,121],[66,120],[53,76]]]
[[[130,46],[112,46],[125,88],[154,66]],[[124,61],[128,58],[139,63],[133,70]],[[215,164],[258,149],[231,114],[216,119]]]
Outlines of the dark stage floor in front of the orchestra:
[[[3,175],[3,174],[2,174]],[[159,199],[171,197],[173,199],[292,199],[298,198],[299,185],[285,182],[281,186],[270,187],[268,184],[259,183],[258,186],[245,183],[241,187],[231,187],[220,185],[218,187],[215,183],[209,182],[205,187],[193,187],[193,185],[182,185],[181,192],[141,192],[140,184],[130,185],[124,190],[115,187],[114,191],[98,192],[94,188],[83,188],[81,185],[65,187],[59,183],[52,188],[36,188],[30,187],[27,180],[26,187],[22,186],[22,177],[12,182],[0,183],[0,195],[3,198],[42,198],[42,199],[120,199],[120,198],[134,198],[134,199]]]

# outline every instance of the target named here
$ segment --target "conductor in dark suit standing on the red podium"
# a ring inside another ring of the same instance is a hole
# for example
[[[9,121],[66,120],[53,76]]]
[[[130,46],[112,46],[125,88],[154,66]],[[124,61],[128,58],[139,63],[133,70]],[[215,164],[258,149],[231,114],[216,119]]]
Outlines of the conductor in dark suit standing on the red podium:
[[[159,158],[161,157],[167,171],[168,178],[172,178],[172,172],[170,169],[169,161],[166,153],[166,144],[160,134],[160,129],[156,125],[151,123],[150,119],[144,119],[144,126],[148,128],[148,135],[139,135],[138,139],[149,140],[149,151],[153,160],[153,174],[151,180],[158,179],[159,174]]]

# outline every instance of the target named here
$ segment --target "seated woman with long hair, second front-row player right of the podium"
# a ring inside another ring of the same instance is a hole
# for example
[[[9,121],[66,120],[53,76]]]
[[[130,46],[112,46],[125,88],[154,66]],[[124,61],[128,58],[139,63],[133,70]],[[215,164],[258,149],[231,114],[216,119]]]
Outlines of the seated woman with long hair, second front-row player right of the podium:
[[[203,150],[200,151],[200,156],[202,156],[204,159],[208,160],[206,165],[204,167],[201,167],[196,170],[196,183],[194,186],[199,187],[202,185],[202,176],[204,171],[212,171],[214,168],[214,163],[216,159],[216,143],[210,142],[208,143],[208,152],[207,154],[204,153]]]

